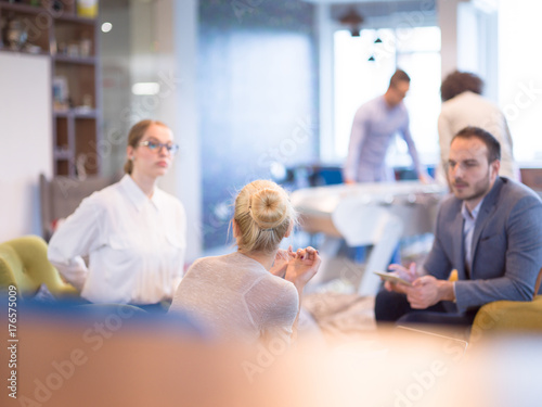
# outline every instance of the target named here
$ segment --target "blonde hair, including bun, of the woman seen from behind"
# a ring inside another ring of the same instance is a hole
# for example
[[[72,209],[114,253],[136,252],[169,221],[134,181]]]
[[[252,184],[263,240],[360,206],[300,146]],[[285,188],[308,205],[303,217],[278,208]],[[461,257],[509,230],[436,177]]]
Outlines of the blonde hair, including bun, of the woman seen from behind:
[[[237,194],[233,218],[241,252],[270,253],[295,224],[296,212],[286,191],[273,181],[257,180]]]

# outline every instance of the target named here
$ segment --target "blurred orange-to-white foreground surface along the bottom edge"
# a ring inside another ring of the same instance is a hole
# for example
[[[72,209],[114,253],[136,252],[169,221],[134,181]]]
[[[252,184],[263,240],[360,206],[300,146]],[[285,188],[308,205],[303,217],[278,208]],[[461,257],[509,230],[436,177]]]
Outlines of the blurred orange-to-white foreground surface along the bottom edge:
[[[540,406],[540,336],[474,352],[446,335],[393,329],[327,349],[241,347],[205,339],[184,319],[130,310],[22,309],[17,399],[4,393],[2,406]]]

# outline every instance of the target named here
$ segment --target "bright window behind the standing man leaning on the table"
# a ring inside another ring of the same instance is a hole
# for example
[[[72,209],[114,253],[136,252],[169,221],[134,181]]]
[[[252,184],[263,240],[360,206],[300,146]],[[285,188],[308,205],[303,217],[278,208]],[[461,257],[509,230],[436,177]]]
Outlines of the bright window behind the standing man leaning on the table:
[[[382,42],[376,41],[377,39]],[[425,164],[437,163],[440,29],[363,29],[360,37],[351,37],[348,30],[338,30],[334,36],[334,133],[337,160],[345,160],[348,153],[350,129],[358,107],[383,94],[396,67],[400,67],[412,79],[404,103],[421,160]],[[370,58],[374,58],[374,61],[369,61]],[[411,164],[406,143],[402,138],[396,138],[387,160],[395,166]]]

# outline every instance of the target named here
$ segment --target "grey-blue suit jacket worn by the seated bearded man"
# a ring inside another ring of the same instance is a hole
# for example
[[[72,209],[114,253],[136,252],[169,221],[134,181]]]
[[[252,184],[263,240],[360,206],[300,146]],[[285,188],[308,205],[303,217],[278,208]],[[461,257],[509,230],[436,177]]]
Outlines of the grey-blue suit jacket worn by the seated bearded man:
[[[531,300],[542,267],[540,198],[524,185],[496,178],[476,219],[470,276],[464,265],[462,203],[453,195],[442,202],[425,270],[446,280],[457,269],[460,311],[498,300]]]

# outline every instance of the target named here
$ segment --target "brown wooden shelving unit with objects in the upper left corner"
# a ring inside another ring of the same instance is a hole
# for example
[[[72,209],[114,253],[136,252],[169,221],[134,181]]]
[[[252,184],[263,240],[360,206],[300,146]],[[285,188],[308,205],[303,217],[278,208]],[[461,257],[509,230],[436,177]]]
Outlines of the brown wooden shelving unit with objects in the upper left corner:
[[[75,0],[0,0],[0,52],[50,56],[54,175],[100,174],[98,21]]]

